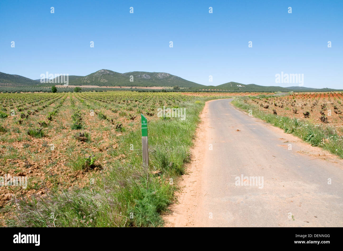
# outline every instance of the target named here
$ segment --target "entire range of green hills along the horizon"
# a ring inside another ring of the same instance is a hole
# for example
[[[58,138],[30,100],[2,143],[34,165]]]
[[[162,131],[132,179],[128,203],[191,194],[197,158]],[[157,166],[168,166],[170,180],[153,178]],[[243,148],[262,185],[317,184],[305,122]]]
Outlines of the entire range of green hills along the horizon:
[[[40,79],[30,79],[20,75],[12,75],[0,72],[0,86],[41,86],[51,85],[48,83],[41,84]],[[133,81],[130,81],[133,80]],[[54,79],[57,84],[57,79]],[[59,85],[59,84],[57,84]],[[95,85],[95,86],[137,86],[137,87],[152,87],[152,86],[180,86],[192,90],[228,90],[228,91],[330,91],[335,89],[316,89],[302,86],[280,87],[280,86],[260,86],[255,84],[240,84],[237,82],[228,82],[218,86],[205,86],[188,81],[175,75],[165,72],[127,72],[118,73],[110,70],[99,70],[87,76],[69,76],[69,85]]]

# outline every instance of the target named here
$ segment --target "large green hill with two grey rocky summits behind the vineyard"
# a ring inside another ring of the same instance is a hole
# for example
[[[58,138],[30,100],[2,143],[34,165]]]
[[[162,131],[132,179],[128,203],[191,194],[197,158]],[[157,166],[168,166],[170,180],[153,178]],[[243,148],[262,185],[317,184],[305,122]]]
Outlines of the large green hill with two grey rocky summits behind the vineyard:
[[[133,82],[130,82],[133,76]],[[84,77],[69,78],[69,85],[97,86],[175,86],[203,87],[178,76],[164,72],[127,72],[118,73],[110,70],[99,70]]]

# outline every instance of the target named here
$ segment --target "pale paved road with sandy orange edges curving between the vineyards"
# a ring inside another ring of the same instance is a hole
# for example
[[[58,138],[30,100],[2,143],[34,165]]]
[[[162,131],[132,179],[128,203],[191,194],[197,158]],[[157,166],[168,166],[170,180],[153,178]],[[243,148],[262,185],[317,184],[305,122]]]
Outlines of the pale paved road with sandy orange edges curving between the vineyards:
[[[230,101],[206,103],[166,226],[342,227],[343,161]]]

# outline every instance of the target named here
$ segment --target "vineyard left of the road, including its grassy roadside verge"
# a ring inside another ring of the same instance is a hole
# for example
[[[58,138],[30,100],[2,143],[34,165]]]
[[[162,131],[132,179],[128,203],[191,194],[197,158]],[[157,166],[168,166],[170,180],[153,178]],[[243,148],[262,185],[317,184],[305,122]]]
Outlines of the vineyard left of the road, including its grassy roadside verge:
[[[199,112],[213,98],[129,91],[0,94],[0,177],[28,177],[26,188],[0,187],[0,224],[161,225],[173,180],[189,160]],[[158,117],[163,106],[184,109],[185,119]],[[141,164],[141,113],[149,123],[148,168]]]

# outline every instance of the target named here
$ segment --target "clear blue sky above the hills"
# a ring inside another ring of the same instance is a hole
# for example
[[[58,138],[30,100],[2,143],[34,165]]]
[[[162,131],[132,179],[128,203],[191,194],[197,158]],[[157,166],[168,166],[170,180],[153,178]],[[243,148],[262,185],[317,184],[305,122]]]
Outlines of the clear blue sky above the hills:
[[[343,88],[342,13],[342,0],[1,0],[0,72],[39,79],[104,68],[203,85],[294,86],[275,84],[284,72],[304,74],[304,87]]]

